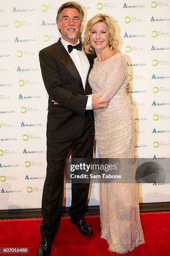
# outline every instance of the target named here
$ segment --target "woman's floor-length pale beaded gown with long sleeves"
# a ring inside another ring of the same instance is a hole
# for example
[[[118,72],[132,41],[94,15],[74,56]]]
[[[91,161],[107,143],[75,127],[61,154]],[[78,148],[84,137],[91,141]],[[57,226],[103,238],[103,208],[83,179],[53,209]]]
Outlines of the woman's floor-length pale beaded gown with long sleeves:
[[[125,92],[128,70],[121,54],[94,60],[89,75],[92,94],[103,92],[107,108],[94,110],[95,139],[100,158],[133,158],[133,107]],[[101,237],[109,250],[127,253],[144,243],[137,184],[100,184]]]

